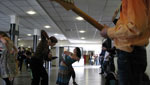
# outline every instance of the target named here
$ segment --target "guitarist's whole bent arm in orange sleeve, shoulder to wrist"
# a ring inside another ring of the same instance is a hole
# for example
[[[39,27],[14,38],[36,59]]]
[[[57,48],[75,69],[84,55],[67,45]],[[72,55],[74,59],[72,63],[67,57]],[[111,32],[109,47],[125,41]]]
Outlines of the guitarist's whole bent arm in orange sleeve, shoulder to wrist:
[[[134,4],[136,2],[136,4]],[[122,1],[122,11],[116,27],[108,29],[110,38],[133,39],[144,34],[147,29],[147,11],[143,0]]]

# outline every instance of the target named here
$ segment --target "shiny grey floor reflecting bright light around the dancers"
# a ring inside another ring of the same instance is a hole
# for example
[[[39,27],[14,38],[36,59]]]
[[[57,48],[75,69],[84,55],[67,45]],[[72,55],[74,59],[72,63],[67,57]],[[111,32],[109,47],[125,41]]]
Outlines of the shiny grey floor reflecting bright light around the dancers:
[[[99,74],[99,66],[74,67],[76,72],[76,82],[78,85],[104,85],[104,78]],[[58,67],[51,67],[48,70],[49,85],[56,85]],[[0,85],[5,85],[0,79]],[[14,85],[31,85],[31,72],[23,71],[14,80]],[[72,84],[72,79],[69,85]]]

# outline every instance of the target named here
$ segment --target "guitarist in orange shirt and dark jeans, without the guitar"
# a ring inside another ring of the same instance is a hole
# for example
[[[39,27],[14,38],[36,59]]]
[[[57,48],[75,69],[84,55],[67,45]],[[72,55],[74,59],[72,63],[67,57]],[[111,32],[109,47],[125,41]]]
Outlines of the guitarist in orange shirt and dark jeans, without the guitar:
[[[104,26],[101,35],[111,38],[117,48],[119,85],[141,85],[147,66],[150,0],[122,0],[116,26]]]

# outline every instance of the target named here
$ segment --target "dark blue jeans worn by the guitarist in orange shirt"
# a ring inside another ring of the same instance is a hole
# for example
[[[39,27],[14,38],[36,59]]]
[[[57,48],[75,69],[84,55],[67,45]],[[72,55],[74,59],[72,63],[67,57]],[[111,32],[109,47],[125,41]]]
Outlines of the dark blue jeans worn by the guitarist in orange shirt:
[[[140,85],[147,66],[146,49],[135,46],[132,52],[117,50],[119,85]]]

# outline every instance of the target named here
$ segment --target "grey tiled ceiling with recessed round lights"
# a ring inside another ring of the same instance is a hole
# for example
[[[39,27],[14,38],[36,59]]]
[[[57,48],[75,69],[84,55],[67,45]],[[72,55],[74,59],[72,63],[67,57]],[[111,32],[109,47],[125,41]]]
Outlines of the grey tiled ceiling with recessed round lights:
[[[113,26],[111,18],[120,1],[74,0],[74,4],[99,23]],[[36,14],[28,15],[26,12],[29,10],[36,11]],[[19,18],[19,38],[23,40],[31,40],[32,36],[27,34],[33,34],[34,29],[44,29],[49,36],[54,35],[60,41],[68,40],[70,43],[100,43],[103,39],[95,27],[85,20],[76,20],[77,14],[51,0],[0,0],[0,31],[10,29],[10,15]],[[45,25],[51,28],[45,29]],[[86,32],[79,33],[80,30]]]

